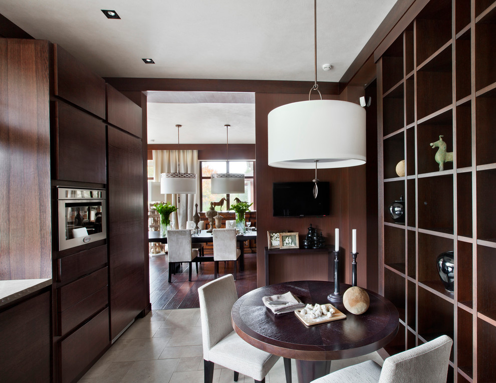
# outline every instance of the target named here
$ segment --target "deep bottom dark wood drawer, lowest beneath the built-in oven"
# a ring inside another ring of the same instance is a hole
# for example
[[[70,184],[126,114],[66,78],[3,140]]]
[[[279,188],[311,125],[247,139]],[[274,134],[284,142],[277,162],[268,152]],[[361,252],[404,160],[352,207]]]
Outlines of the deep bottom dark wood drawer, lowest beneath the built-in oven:
[[[109,310],[106,308],[59,343],[59,380],[73,381],[110,345]]]

